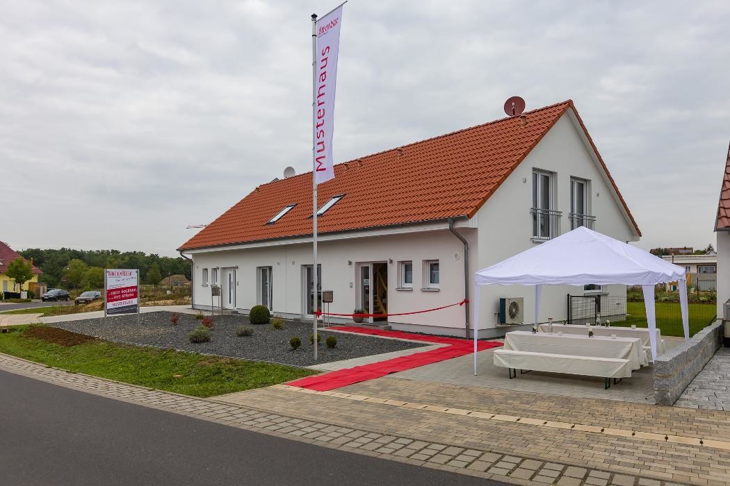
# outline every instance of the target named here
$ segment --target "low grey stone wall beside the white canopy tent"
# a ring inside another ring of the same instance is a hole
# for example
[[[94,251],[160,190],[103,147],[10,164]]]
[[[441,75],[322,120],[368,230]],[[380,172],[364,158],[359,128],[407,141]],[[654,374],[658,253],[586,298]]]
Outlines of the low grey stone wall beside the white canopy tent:
[[[661,356],[654,363],[654,401],[673,405],[687,385],[723,344],[723,324],[717,321]]]

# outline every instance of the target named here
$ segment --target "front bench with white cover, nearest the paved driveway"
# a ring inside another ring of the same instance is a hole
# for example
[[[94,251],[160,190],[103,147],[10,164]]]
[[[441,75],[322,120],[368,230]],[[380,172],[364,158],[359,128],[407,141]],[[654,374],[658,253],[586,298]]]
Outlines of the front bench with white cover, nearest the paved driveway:
[[[496,349],[494,350],[494,365],[507,368],[510,379],[517,377],[518,369],[520,372],[526,372],[525,370],[527,370],[602,377],[605,389],[610,388],[611,378],[613,378],[615,384],[618,379],[631,377],[631,362],[628,359],[620,358]]]

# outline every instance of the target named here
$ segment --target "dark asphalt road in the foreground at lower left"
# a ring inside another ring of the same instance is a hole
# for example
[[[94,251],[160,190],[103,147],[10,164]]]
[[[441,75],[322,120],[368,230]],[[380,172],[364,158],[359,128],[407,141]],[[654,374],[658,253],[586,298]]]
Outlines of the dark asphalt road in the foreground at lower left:
[[[6,485],[499,485],[0,371]]]

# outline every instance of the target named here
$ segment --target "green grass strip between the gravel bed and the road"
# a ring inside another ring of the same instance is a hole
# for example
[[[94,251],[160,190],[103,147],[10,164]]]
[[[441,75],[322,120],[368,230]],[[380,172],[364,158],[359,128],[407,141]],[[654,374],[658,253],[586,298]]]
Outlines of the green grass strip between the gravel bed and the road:
[[[278,364],[137,348],[100,340],[65,347],[24,337],[25,329],[28,326],[15,326],[0,334],[0,353],[184,395],[215,396],[315,374],[309,369]]]

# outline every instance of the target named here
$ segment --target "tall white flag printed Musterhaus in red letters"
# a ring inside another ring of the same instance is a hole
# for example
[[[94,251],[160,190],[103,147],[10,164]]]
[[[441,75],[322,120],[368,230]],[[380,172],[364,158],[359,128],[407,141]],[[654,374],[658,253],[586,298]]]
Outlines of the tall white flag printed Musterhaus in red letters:
[[[334,179],[332,133],[334,131],[334,93],[337,87],[337,54],[342,5],[317,21],[317,66],[315,78],[315,181]]]

